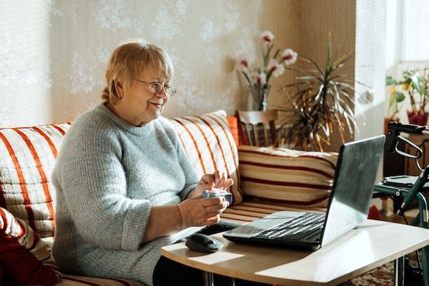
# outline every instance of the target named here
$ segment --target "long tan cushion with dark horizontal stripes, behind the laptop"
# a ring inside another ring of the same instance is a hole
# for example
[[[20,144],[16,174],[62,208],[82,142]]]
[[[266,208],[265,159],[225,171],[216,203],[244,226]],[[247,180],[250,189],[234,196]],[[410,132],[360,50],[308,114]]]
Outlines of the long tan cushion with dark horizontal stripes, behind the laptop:
[[[240,145],[238,156],[246,198],[326,207],[337,153]]]

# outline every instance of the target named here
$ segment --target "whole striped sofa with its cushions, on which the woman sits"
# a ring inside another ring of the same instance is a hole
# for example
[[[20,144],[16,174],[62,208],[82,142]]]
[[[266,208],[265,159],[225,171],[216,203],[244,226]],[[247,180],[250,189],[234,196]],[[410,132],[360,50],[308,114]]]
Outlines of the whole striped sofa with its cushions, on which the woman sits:
[[[171,123],[198,175],[219,169],[234,185],[222,219],[250,222],[280,210],[324,211],[337,154],[238,146],[236,120],[223,110]],[[49,252],[55,234],[51,172],[71,123],[0,128],[0,286],[142,285],[61,273]]]

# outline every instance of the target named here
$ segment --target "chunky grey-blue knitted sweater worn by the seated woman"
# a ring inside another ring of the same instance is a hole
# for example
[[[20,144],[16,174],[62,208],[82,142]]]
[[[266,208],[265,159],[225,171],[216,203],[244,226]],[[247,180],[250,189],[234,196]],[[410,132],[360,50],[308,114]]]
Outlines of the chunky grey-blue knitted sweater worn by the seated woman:
[[[66,133],[52,176],[64,273],[152,285],[160,248],[195,232],[140,243],[151,206],[180,203],[199,180],[163,117],[135,127],[95,106]]]

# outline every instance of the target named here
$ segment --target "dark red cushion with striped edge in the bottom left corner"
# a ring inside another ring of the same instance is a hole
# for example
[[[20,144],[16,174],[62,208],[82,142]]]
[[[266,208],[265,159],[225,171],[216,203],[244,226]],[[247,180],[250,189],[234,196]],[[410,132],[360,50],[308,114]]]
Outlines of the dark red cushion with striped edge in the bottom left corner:
[[[0,208],[0,265],[7,285],[52,285],[61,281],[51,252],[39,235],[5,208]]]

